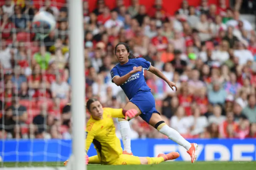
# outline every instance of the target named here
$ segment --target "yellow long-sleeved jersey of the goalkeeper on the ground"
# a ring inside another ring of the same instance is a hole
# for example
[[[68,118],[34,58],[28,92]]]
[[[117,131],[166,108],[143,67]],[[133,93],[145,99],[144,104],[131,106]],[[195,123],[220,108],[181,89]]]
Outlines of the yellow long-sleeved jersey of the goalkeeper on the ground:
[[[90,117],[86,125],[86,152],[93,143],[101,164],[111,164],[122,154],[112,117],[124,118],[122,109],[103,108],[103,119]]]

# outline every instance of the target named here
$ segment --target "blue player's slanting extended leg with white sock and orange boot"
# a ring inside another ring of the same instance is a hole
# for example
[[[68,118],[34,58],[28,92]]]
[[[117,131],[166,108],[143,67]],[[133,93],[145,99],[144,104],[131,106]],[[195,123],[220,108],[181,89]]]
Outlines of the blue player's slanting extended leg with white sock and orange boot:
[[[156,128],[160,133],[168,136],[170,140],[186,148],[188,154],[190,154],[191,162],[195,162],[197,157],[196,151],[198,145],[196,143],[188,142],[179,134],[179,132],[166,125],[166,123],[162,120],[160,114],[156,112],[157,111],[155,110],[151,112],[152,114],[148,113],[146,115],[141,115],[141,117],[144,116],[142,117],[142,119],[144,119],[147,123]]]

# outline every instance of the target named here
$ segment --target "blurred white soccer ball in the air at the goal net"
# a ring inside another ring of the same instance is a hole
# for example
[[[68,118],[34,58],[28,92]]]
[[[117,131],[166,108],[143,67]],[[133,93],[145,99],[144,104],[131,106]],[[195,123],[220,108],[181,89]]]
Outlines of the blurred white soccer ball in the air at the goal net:
[[[47,36],[56,27],[54,16],[46,11],[36,13],[32,21],[33,32],[41,36]]]

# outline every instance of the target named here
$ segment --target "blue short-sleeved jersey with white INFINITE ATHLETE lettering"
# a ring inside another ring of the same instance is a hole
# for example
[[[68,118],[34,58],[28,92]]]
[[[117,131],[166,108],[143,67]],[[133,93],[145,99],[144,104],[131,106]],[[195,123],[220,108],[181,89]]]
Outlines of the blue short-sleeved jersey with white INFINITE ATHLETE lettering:
[[[134,67],[139,66],[143,68],[142,71],[134,73],[126,82],[124,82],[124,84],[120,85],[129,100],[132,99],[139,90],[150,91],[144,78],[144,70],[150,68],[150,62],[146,61],[144,58],[129,59],[124,65],[119,63],[110,71],[113,82],[114,77],[122,77],[132,71]]]

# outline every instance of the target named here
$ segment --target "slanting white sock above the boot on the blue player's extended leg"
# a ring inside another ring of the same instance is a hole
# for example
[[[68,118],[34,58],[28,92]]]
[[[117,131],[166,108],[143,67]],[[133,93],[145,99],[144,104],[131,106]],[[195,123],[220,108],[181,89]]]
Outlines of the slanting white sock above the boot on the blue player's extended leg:
[[[186,139],[184,139],[179,132],[177,132],[175,129],[168,127],[168,125],[164,125],[160,130],[160,133],[168,136],[168,138],[177,144],[183,146],[186,148],[186,150],[189,150],[191,147],[190,142],[188,142]]]

